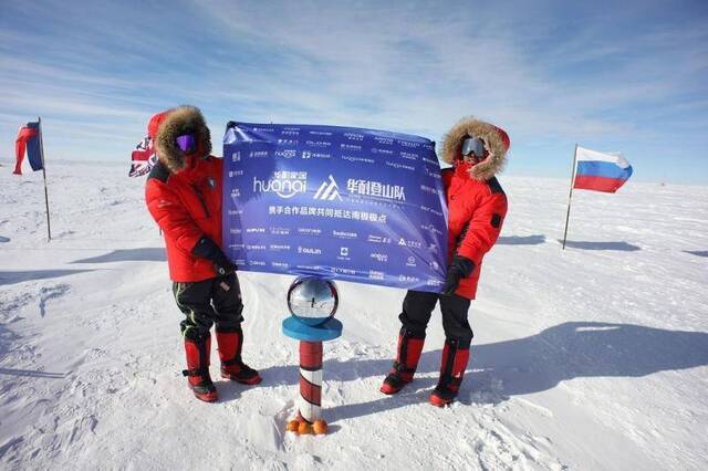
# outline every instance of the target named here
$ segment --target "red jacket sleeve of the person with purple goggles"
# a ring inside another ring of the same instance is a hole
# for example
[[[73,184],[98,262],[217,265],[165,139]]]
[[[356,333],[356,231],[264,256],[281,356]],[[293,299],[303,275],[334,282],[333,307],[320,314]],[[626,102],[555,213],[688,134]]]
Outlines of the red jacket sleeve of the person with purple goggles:
[[[191,252],[204,232],[189,216],[177,195],[157,179],[148,179],[145,188],[147,209],[157,226],[177,247]]]

